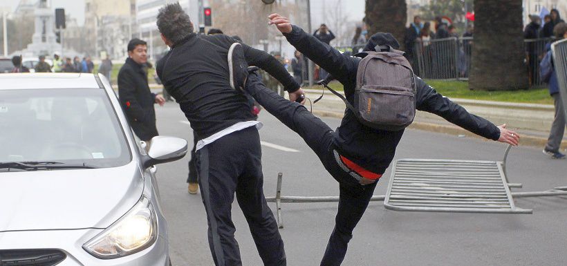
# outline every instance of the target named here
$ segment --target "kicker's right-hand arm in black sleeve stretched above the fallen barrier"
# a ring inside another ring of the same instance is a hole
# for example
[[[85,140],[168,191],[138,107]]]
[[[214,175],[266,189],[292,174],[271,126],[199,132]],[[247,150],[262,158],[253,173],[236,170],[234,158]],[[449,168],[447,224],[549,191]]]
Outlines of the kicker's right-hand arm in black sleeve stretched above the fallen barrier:
[[[463,106],[452,102],[440,95],[434,88],[417,79],[418,93],[416,95],[417,108],[420,111],[434,113],[445,120],[461,126],[463,129],[481,135],[491,140],[518,145],[520,136],[514,131],[506,129],[506,124],[495,126],[483,117],[467,112]]]

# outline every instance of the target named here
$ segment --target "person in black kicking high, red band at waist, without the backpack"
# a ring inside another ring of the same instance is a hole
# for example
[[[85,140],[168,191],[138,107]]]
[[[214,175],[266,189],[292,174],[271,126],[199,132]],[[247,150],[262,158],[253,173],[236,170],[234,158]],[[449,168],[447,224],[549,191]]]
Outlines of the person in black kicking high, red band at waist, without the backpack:
[[[342,55],[301,28],[292,26],[285,17],[273,14],[269,18],[270,24],[275,24],[290,44],[316,64],[326,68],[344,85],[346,99],[353,104],[357,68],[361,59]],[[376,46],[383,45],[399,47],[392,35],[378,33],[371,37],[364,50],[373,50]],[[393,160],[404,131],[371,129],[360,123],[347,108],[341,125],[335,132],[301,104],[287,101],[266,89],[256,73],[248,76],[245,90],[268,112],[297,132],[315,151],[325,169],[339,182],[340,201],[335,229],[321,265],[340,265],[353,229],[362,218],[379,178]],[[295,101],[296,97],[297,95],[290,95],[290,100]],[[477,135],[512,145],[518,144],[519,136],[514,131],[505,129],[505,124],[497,127],[482,117],[468,113],[465,108],[438,94],[419,78],[416,105],[419,110],[440,115]]]

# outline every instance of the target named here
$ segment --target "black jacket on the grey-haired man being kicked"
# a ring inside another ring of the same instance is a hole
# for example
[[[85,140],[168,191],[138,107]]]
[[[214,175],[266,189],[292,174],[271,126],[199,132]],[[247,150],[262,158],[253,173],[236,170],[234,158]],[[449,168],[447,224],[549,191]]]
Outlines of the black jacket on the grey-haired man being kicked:
[[[162,84],[180,104],[200,139],[237,122],[256,120],[252,103],[229,85],[227,52],[234,42],[226,35],[192,33],[158,61],[156,70]],[[245,44],[243,48],[250,66],[266,70],[286,91],[299,89],[277,59]]]

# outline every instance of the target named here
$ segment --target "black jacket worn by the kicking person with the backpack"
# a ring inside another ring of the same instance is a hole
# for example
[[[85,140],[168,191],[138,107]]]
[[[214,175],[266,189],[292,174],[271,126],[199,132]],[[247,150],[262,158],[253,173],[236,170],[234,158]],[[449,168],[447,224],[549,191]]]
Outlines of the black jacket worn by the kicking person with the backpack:
[[[348,57],[322,44],[315,37],[293,26],[292,32],[284,34],[290,44],[322,66],[344,85],[348,102],[353,104],[356,73],[360,58]],[[482,117],[468,113],[465,108],[437,93],[431,86],[417,78],[416,105],[418,110],[435,113],[472,133],[498,140],[500,130]],[[342,155],[374,173],[384,173],[393,160],[396,146],[404,131],[380,131],[362,125],[350,109],[346,109],[341,125],[337,129],[335,144]]]

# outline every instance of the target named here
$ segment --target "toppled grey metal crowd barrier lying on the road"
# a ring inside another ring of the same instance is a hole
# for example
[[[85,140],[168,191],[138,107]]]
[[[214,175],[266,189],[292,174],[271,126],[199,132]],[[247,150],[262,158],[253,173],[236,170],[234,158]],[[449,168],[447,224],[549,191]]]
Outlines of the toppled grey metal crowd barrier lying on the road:
[[[567,43],[564,42],[561,49],[561,53],[567,53]],[[565,82],[567,80],[565,60],[563,64]],[[565,91],[565,86],[563,90]],[[372,196],[371,201],[382,201],[384,207],[396,211],[532,213],[531,209],[515,207],[513,199],[567,196],[567,187],[555,187],[547,191],[510,191],[512,188],[522,187],[522,184],[508,182],[506,158],[510,147],[506,148],[504,159],[499,162],[397,160],[394,162],[387,195]],[[403,167],[398,169],[398,163],[404,164]],[[276,203],[279,228],[283,228],[281,214],[283,202],[339,201],[338,196],[281,196],[282,180],[283,174],[278,173],[276,196],[266,198],[267,202]]]

